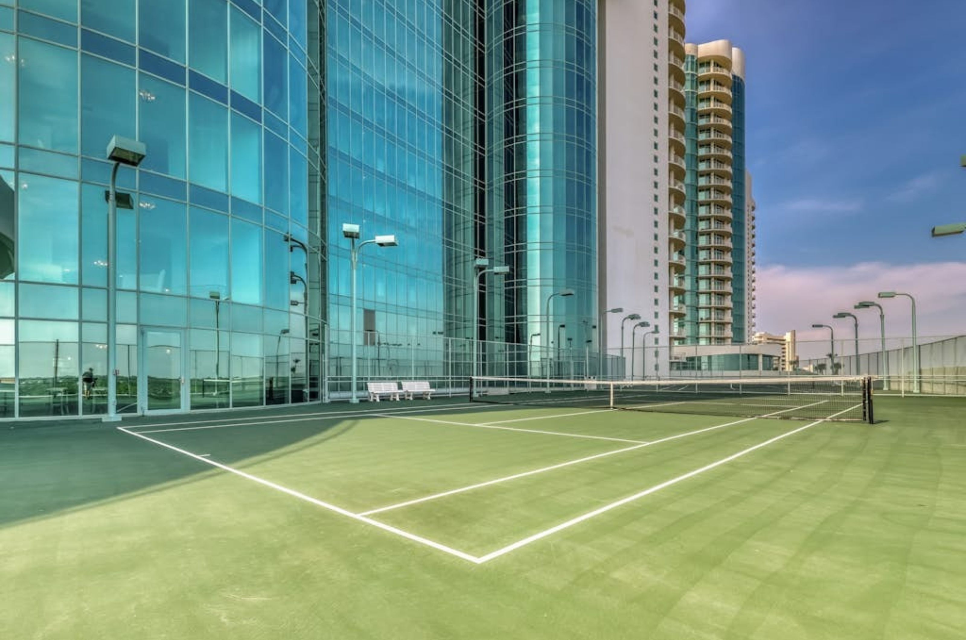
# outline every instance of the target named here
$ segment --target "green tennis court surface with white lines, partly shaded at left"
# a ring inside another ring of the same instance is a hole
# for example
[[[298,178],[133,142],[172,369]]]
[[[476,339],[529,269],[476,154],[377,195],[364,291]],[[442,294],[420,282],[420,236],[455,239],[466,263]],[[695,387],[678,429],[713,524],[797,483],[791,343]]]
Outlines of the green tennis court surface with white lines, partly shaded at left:
[[[966,399],[3,423],[2,637],[962,638]]]

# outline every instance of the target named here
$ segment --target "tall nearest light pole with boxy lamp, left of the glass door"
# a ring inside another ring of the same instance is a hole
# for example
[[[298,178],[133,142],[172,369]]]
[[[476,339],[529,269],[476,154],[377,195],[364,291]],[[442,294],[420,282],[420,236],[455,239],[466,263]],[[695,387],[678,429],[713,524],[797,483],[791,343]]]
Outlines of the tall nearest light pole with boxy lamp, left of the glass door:
[[[103,422],[117,422],[118,416],[118,340],[117,340],[117,218],[118,169],[122,164],[137,166],[148,154],[143,142],[115,135],[107,143],[107,160],[114,162],[111,169],[111,189],[107,212],[107,415]],[[130,371],[128,369],[128,375]]]

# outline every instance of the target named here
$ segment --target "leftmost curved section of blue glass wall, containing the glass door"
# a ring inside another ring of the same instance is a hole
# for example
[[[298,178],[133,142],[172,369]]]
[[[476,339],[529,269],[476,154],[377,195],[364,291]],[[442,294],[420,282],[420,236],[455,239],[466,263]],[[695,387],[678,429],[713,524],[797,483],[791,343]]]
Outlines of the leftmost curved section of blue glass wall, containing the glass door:
[[[0,417],[105,411],[112,135],[148,148],[118,175],[119,410],[319,396],[323,17],[0,0]],[[149,328],[184,335],[180,390],[146,377]]]

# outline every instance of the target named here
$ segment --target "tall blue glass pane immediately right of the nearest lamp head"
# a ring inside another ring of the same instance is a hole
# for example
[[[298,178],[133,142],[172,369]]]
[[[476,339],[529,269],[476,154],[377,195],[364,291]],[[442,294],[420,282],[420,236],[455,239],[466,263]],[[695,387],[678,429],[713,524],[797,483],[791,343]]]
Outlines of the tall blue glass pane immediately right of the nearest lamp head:
[[[184,178],[185,89],[142,73],[138,99],[139,139],[148,146],[141,166]]]

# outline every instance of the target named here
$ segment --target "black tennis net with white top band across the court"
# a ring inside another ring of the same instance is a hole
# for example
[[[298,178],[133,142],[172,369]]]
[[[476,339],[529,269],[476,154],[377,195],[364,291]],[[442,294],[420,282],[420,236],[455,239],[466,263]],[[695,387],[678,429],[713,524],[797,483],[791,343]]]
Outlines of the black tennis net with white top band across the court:
[[[554,380],[474,377],[470,400],[662,413],[872,422],[862,377],[721,380]]]

